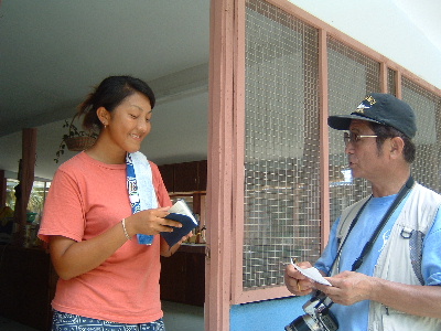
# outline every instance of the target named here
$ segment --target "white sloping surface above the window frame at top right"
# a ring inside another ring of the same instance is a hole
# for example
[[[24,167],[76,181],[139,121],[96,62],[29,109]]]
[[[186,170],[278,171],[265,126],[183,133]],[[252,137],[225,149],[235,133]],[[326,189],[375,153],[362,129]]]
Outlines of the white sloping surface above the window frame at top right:
[[[289,1],[441,88],[441,1]]]

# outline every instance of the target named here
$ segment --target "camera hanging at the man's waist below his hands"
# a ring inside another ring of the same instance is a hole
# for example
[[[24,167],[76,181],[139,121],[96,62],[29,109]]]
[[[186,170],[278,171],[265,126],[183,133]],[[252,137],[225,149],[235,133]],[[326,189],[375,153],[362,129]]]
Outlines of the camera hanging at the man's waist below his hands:
[[[303,305],[305,314],[298,317],[286,331],[336,331],[338,322],[330,311],[331,299],[321,292],[318,292],[311,300]]]

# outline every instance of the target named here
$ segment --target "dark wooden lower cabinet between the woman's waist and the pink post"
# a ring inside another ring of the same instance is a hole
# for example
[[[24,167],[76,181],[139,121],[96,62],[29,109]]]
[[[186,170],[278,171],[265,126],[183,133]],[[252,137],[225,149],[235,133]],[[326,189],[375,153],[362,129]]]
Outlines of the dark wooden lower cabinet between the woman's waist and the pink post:
[[[204,306],[205,246],[183,245],[171,257],[161,257],[161,299]]]

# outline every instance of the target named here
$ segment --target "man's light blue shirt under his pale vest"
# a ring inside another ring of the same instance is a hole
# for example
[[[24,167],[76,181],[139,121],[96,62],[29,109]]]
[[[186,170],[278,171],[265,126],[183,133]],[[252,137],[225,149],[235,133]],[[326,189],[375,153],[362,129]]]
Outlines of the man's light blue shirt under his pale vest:
[[[352,229],[344,244],[342,256],[340,259],[340,273],[344,270],[351,270],[352,265],[355,259],[361,255],[363,247],[366,242],[370,238],[372,234],[375,232],[378,223],[381,221],[383,216],[387,212],[388,207],[392,204],[395,195],[384,196],[384,197],[372,197],[367,203],[365,210],[357,224]],[[373,246],[370,253],[364,258],[364,261],[358,273],[372,276],[374,274],[374,268],[377,259],[386,246],[387,239],[389,238],[391,228],[400,214],[408,196],[401,201],[396,211],[389,217],[386,226],[383,228],[378,239]],[[322,256],[315,264],[315,267],[327,274],[331,268],[332,263],[337,254],[337,238],[336,231],[338,226],[340,218],[334,223],[330,241],[324,249]],[[424,244],[422,248],[422,261],[421,269],[422,276],[426,285],[441,285],[441,212],[438,211],[435,221],[424,238]],[[334,303],[331,308],[332,312],[335,314],[338,323],[340,331],[366,331],[368,328],[368,314],[369,314],[369,301],[359,301],[352,306],[342,306]]]

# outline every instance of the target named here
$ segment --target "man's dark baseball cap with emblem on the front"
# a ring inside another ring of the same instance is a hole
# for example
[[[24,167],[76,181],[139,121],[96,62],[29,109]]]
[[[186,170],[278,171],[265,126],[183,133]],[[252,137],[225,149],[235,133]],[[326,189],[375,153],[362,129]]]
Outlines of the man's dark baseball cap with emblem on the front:
[[[413,138],[417,132],[412,108],[390,94],[372,93],[351,115],[330,116],[327,125],[336,130],[348,130],[353,119],[390,126],[409,138]]]

